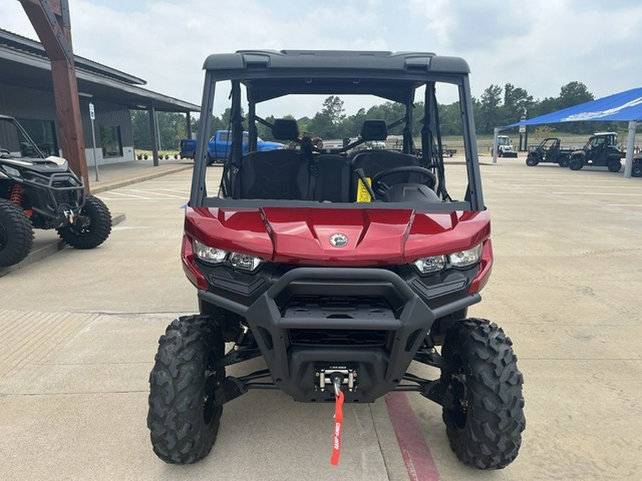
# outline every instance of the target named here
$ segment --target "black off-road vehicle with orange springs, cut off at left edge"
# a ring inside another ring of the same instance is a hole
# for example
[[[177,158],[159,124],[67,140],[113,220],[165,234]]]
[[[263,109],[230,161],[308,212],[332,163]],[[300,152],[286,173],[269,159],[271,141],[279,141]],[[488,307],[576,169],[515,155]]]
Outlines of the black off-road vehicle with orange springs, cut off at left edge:
[[[18,264],[35,229],[56,229],[76,249],[92,249],[111,232],[103,201],[85,195],[83,180],[61,157],[45,157],[13,117],[0,115],[0,267]]]

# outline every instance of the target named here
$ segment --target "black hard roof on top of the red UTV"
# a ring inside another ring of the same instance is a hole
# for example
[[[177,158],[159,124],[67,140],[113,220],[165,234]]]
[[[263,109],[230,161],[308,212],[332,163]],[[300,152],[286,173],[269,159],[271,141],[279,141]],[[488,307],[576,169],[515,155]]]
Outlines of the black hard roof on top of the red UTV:
[[[215,81],[242,81],[255,102],[292,93],[333,93],[407,103],[410,91],[428,78],[460,83],[470,72],[463,58],[386,51],[241,50],[214,53],[203,68]]]

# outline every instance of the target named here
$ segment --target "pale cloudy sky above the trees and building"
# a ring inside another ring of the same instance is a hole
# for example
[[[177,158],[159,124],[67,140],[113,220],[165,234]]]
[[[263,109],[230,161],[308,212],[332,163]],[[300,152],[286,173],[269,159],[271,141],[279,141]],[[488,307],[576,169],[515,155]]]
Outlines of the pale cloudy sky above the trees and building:
[[[640,0],[69,0],[74,52],[200,104],[203,61],[247,48],[430,51],[471,68],[472,94],[512,83],[536,99],[571,81],[596,98],[640,87]],[[37,39],[21,4],[0,28]],[[455,98],[440,98],[452,102]],[[322,98],[270,105],[297,118]],[[218,103],[221,105],[221,103]],[[359,105],[346,99],[348,114]],[[220,112],[223,108],[215,108]]]

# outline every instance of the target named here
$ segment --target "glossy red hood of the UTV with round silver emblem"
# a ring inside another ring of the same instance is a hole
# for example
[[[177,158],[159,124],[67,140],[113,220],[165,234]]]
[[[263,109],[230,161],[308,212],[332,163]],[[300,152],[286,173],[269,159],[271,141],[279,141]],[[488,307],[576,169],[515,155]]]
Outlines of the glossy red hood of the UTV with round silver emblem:
[[[210,246],[272,262],[358,267],[406,264],[468,249],[489,237],[490,219],[487,211],[188,207],[185,232]],[[344,234],[347,244],[332,246],[333,234]]]

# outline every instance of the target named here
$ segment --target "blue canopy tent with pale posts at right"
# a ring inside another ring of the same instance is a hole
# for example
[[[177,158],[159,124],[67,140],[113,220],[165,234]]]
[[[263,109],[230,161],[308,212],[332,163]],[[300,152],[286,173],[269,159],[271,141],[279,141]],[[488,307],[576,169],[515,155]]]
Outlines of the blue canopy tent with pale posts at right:
[[[642,120],[642,88],[632,88],[608,97],[598,98],[590,102],[574,105],[573,107],[557,110],[556,112],[529,118],[521,122],[495,129],[495,139],[499,130],[517,127],[518,125],[541,125],[544,123],[586,122],[597,120],[613,120],[628,122],[628,144],[626,148],[626,165],[624,177],[631,177],[633,166],[633,148],[635,148],[636,125]],[[494,140],[494,152],[497,151]],[[493,159],[496,162],[496,159]]]

